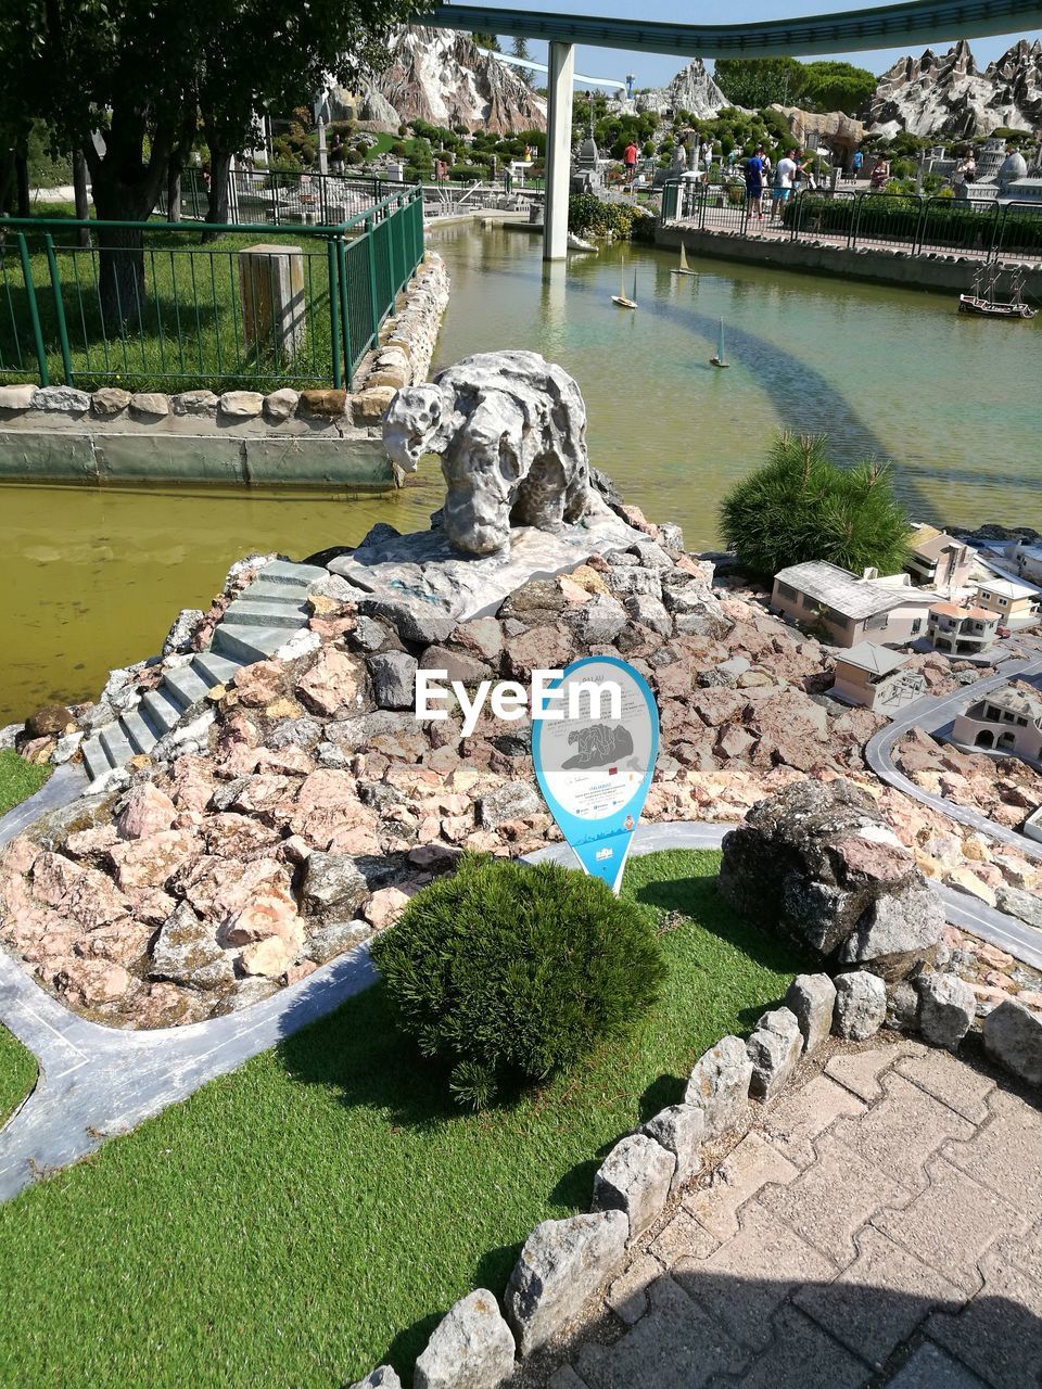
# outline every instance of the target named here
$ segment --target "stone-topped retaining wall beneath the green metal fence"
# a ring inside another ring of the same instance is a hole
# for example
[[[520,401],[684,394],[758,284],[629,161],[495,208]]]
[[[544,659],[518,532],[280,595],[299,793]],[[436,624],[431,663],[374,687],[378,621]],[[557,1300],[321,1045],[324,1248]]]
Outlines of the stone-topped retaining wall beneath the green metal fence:
[[[381,419],[396,390],[427,381],[447,301],[445,263],[428,251],[353,393],[0,386],[0,479],[399,486]]]

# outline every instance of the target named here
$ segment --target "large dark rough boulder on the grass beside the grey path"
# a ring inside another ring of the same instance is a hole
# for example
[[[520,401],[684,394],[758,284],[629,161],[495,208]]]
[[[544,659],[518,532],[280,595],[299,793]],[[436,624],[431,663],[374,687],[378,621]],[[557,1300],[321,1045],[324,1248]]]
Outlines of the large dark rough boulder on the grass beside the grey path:
[[[834,967],[896,981],[932,961],[945,914],[879,815],[845,781],[797,782],[757,801],[724,839],[720,890]]]

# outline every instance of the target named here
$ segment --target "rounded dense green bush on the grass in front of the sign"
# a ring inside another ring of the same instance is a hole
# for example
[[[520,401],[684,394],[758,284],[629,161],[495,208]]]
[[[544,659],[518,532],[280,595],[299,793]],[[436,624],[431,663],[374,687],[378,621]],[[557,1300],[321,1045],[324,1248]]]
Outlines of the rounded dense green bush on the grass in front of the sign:
[[[599,878],[477,854],[417,893],[372,957],[402,1031],[474,1108],[628,1032],[665,976],[652,918]]]

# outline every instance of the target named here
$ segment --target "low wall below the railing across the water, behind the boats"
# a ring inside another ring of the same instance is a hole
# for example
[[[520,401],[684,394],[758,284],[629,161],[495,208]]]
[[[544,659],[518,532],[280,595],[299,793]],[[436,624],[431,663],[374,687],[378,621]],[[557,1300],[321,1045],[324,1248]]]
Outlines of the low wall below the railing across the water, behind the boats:
[[[910,256],[902,250],[863,247],[846,250],[824,242],[791,242],[772,238],[750,238],[738,232],[700,232],[681,222],[659,225],[657,246],[684,244],[688,254],[717,260],[768,265],[771,269],[811,271],[816,275],[838,275],[842,279],[864,279],[874,285],[896,285],[904,289],[934,289],[967,293],[973,289],[979,260],[970,260],[956,251]],[[1004,263],[1000,263],[1004,264]],[[1042,267],[1021,265],[1024,294],[1028,303],[1042,297]]]

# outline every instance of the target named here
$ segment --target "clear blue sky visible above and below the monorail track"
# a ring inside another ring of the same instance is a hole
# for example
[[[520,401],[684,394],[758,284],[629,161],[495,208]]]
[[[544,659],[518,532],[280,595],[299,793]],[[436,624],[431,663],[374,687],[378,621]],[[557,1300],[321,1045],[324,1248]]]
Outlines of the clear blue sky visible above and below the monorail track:
[[[828,14],[836,10],[861,10],[864,6],[842,4],[838,0],[734,0],[732,4],[677,4],[675,0],[504,0],[513,3],[518,10],[543,10],[556,14],[603,14],[620,18],[640,18],[659,21],[681,21],[690,24],[736,24],[756,19],[786,19],[803,14]],[[879,0],[867,0],[879,3]],[[984,68],[993,58],[998,58],[1017,39],[1039,39],[1042,32],[1003,35],[996,39],[974,39],[971,49],[977,58],[977,65]],[[510,51],[508,40],[500,39],[504,51]],[[936,51],[946,51],[948,42],[934,43]],[[532,57],[538,63],[546,63],[546,44],[529,40]],[[903,57],[904,49],[882,49],[874,53],[834,53],[822,57],[846,58],[859,67],[870,68],[873,72],[885,72],[896,58]],[[921,51],[921,49],[918,50]],[[797,53],[795,57],[811,57],[813,54]],[[590,49],[581,44],[575,53],[575,68],[588,76],[617,78],[622,81],[627,72],[636,78],[635,86],[665,86],[678,71],[677,57],[659,57],[654,53],[625,53],[622,49]],[[711,67],[711,64],[707,64]],[[539,83],[538,83],[539,85]]]

